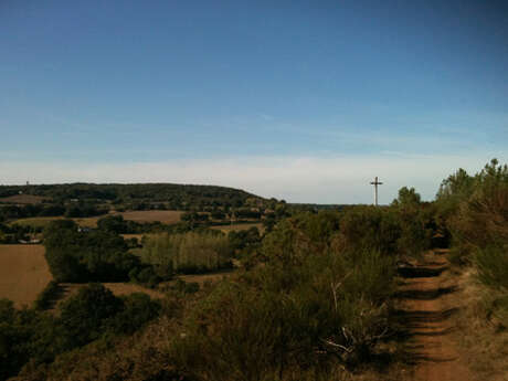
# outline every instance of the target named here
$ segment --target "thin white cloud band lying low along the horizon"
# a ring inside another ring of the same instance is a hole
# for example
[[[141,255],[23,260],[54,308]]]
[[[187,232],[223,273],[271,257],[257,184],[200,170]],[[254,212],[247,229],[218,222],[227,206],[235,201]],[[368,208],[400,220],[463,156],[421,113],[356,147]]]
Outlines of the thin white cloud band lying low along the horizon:
[[[242,157],[138,163],[1,162],[0,183],[173,182],[234,187],[289,202],[371,203],[369,182],[384,184],[380,202],[389,203],[400,188],[415,187],[426,200],[458,168],[474,173],[493,157],[408,156]]]

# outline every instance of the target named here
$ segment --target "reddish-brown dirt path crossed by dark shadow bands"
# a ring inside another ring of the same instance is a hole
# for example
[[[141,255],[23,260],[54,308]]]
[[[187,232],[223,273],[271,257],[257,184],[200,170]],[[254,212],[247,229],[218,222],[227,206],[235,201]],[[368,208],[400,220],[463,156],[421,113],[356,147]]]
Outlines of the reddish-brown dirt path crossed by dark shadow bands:
[[[401,269],[401,322],[409,336],[408,357],[414,364],[411,381],[473,381],[449,337],[449,317],[459,301],[456,286],[446,277],[448,263],[443,253],[428,253],[416,267]]]

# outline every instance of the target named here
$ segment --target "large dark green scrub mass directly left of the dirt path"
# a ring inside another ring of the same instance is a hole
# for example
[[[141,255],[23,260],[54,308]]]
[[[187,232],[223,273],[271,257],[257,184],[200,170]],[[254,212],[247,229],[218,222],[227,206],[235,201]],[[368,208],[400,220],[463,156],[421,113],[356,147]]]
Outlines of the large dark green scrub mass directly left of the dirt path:
[[[304,214],[278,223],[263,241],[262,264],[197,306],[171,349],[174,366],[190,379],[286,380],[368,360],[388,329],[394,260],[334,250],[338,224],[329,221]]]

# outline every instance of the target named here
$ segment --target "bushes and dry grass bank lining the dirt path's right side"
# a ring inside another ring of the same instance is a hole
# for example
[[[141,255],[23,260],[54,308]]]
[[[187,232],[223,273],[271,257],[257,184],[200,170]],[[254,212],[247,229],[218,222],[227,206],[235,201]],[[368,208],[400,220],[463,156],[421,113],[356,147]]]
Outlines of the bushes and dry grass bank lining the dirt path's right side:
[[[476,174],[459,169],[441,186],[437,219],[448,229],[464,307],[457,343],[484,380],[508,373],[508,167],[491,160]]]

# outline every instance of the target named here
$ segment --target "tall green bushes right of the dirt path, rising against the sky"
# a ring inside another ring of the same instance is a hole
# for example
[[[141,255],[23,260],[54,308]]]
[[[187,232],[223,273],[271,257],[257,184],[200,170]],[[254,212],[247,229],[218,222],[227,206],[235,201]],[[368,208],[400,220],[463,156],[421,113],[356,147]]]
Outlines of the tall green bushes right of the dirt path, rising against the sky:
[[[494,159],[475,176],[458,170],[443,181],[436,204],[447,212],[453,262],[476,266],[497,295],[493,308],[508,310],[508,166]]]

